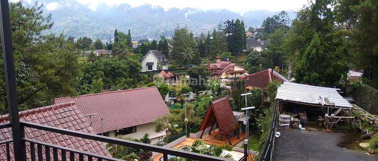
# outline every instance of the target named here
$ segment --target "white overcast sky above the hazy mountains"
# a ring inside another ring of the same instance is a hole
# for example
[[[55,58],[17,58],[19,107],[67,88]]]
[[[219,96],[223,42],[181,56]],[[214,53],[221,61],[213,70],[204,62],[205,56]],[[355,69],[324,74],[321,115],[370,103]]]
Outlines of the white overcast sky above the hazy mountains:
[[[77,2],[88,6],[92,10],[97,9],[97,5],[119,5],[122,3],[137,7],[144,4],[152,6],[160,6],[165,10],[169,8],[198,8],[203,10],[211,9],[228,9],[235,12],[243,12],[249,10],[268,10],[282,11],[294,10],[302,8],[307,4],[308,0],[76,0]]]

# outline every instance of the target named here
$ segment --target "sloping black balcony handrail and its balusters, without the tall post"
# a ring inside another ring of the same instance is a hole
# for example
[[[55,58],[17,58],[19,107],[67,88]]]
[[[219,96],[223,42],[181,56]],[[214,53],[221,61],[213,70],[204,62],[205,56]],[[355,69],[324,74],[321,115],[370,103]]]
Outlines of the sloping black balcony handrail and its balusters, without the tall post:
[[[155,151],[155,152],[159,152],[163,154],[163,160],[168,160],[168,155],[190,158],[194,160],[209,160],[209,161],[227,160],[221,157],[215,157],[215,156],[210,156],[210,155],[205,155],[205,154],[200,154],[200,153],[195,153],[195,152],[190,152],[190,151],[183,151],[179,149],[166,148],[166,147],[161,147],[157,145],[145,144],[145,143],[129,141],[129,140],[124,140],[124,139],[106,137],[106,136],[85,133],[85,132],[80,132],[80,131],[75,131],[75,130],[69,130],[69,129],[64,129],[64,128],[51,127],[51,126],[36,124],[32,122],[20,121],[20,125],[22,129],[24,129],[25,127],[28,127],[28,128],[39,129],[43,131],[49,131],[49,132],[55,132],[55,133],[60,133],[64,135],[91,139],[91,140],[100,141],[100,142],[128,146],[128,147],[133,147],[133,148],[138,148],[138,149],[143,149],[143,150],[148,150],[148,151]],[[0,125],[0,128],[8,128],[10,126],[11,124],[3,124],[3,125]],[[12,140],[0,142],[0,146],[3,144],[7,146],[6,149],[7,149],[8,160],[11,159],[11,154],[9,150],[9,146],[11,142]],[[53,161],[70,160],[72,161],[72,160],[93,160],[93,159],[121,160],[121,159],[117,159],[117,158],[113,158],[109,156],[89,153],[87,151],[81,151],[81,150],[77,150],[77,149],[73,149],[73,148],[69,148],[65,146],[59,146],[59,145],[42,142],[39,140],[25,138],[25,137],[22,138],[22,143],[23,143],[22,149],[25,152],[23,153],[23,155],[26,156],[26,153],[28,153],[32,161],[35,161],[35,160],[53,160]],[[30,150],[26,151],[26,147],[28,147]]]

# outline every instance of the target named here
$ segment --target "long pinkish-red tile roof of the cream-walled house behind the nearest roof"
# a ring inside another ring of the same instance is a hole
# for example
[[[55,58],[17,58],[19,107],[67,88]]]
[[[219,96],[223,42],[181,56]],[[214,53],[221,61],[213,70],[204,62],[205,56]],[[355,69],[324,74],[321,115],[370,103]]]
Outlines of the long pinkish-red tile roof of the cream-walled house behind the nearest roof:
[[[68,101],[75,101],[83,114],[94,114],[91,119],[95,133],[151,123],[169,114],[156,87],[54,99],[55,103]]]

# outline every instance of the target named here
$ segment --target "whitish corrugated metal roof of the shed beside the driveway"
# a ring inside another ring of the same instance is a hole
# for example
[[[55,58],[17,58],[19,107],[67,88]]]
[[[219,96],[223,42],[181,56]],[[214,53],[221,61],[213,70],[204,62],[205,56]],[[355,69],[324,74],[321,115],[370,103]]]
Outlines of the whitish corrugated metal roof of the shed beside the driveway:
[[[352,105],[338,93],[338,90],[340,89],[284,82],[277,89],[276,99],[352,108]]]

